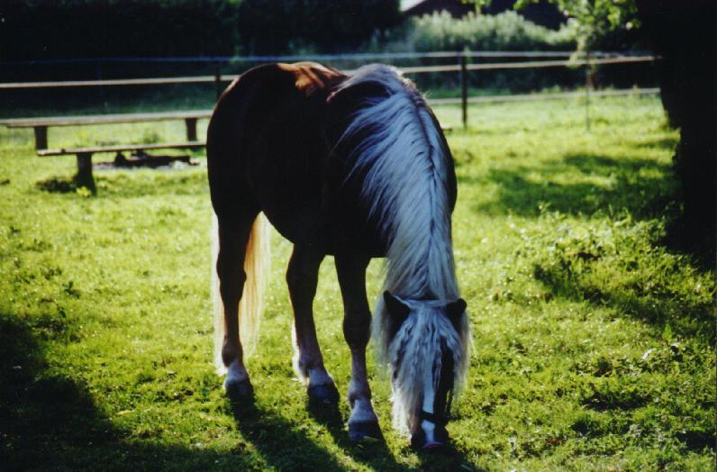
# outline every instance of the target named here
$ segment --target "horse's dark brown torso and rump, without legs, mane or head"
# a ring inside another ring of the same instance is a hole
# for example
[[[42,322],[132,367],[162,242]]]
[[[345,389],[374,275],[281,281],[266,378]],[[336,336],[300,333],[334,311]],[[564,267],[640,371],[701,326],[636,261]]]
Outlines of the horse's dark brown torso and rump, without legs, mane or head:
[[[346,80],[319,64],[253,68],[222,95],[207,132],[215,212],[233,218],[237,203],[263,211],[286,239],[333,254],[352,244],[385,254],[368,222],[360,185],[347,181],[351,163],[337,142],[364,105],[353,90],[332,95]],[[375,94],[381,87],[374,86]]]

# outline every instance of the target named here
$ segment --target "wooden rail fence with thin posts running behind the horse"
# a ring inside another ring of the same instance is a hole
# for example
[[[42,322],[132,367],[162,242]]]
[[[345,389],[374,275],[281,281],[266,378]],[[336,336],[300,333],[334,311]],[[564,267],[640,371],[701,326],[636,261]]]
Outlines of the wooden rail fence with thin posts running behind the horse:
[[[0,83],[0,90],[38,89],[56,87],[86,87],[86,86],[158,86],[173,84],[202,84],[214,83],[217,95],[221,94],[222,82],[233,80],[235,75],[222,75],[221,65],[232,62],[277,62],[295,60],[368,60],[368,59],[458,59],[456,64],[440,66],[407,66],[399,68],[404,74],[422,73],[443,73],[458,72],[461,84],[461,96],[459,98],[441,98],[431,100],[432,104],[461,104],[463,126],[467,126],[467,104],[486,102],[513,102],[519,100],[549,100],[556,98],[567,98],[574,96],[585,96],[589,102],[590,95],[631,95],[631,94],[656,94],[656,88],[639,88],[627,90],[591,91],[589,75],[586,73],[585,92],[560,92],[552,94],[522,94],[522,95],[492,95],[472,96],[467,95],[468,72],[476,70],[507,70],[524,68],[589,68],[599,65],[632,64],[655,61],[655,56],[644,52],[624,54],[619,52],[591,51],[589,54],[578,54],[575,51],[463,51],[463,52],[423,52],[423,53],[384,53],[384,54],[336,54],[336,55],[314,55],[314,56],[246,56],[246,57],[215,57],[215,58],[110,58],[110,59],[58,59],[51,61],[26,61],[12,64],[55,64],[55,63],[80,63],[80,62],[127,62],[127,61],[149,61],[149,62],[213,62],[216,66],[216,73],[213,76],[190,76],[190,77],[150,77],[150,78],[110,78],[98,80],[62,80],[43,82],[6,82]],[[467,59],[535,59],[535,58],[568,58],[552,60],[523,60],[520,62],[478,62],[468,64]],[[0,63],[7,65],[11,63]],[[353,73],[356,69],[345,70]],[[586,108],[585,123],[589,128],[589,116]]]

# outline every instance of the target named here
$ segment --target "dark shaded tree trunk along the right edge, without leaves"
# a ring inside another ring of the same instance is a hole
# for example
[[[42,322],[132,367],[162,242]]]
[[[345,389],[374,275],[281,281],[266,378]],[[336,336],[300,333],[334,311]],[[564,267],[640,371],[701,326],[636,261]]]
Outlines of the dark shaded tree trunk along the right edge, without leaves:
[[[715,250],[715,3],[713,0],[635,0],[642,29],[659,62],[660,92],[670,123],[680,130],[675,155],[683,213],[670,235],[712,262]]]

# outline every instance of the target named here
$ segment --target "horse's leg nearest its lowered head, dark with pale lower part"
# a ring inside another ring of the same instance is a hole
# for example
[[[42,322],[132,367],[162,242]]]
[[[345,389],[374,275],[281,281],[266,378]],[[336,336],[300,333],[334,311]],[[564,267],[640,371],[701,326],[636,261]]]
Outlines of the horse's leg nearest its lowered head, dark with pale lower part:
[[[366,346],[371,326],[366,299],[366,268],[370,258],[344,254],[335,259],[343,297],[343,336],[351,351],[349,438],[363,440],[370,436],[382,439],[366,372]]]

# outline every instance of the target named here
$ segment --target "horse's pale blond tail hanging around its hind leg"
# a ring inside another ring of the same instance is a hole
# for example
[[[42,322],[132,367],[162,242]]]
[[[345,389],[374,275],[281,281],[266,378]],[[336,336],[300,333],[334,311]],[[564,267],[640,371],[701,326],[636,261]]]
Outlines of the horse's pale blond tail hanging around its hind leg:
[[[219,255],[219,226],[216,216],[212,225],[212,252],[216,263]],[[251,232],[245,250],[244,272],[246,281],[239,302],[239,332],[244,358],[254,351],[259,338],[259,318],[264,310],[264,290],[267,286],[271,262],[269,246],[269,224],[264,213],[259,213],[251,225]],[[219,277],[216,268],[212,270],[212,292],[214,304],[214,364],[220,373],[226,372],[222,362],[222,341],[224,339],[224,306],[219,293]]]

